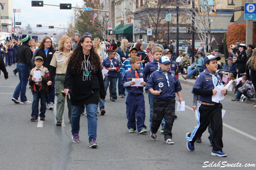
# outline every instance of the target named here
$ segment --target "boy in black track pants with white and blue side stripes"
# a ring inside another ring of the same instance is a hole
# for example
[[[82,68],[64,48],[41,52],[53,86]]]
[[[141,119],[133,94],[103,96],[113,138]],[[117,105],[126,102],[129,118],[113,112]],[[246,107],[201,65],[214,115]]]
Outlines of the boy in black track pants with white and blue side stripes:
[[[221,109],[222,104],[213,102],[212,95],[217,94],[215,86],[222,85],[220,76],[216,73],[218,68],[217,61],[220,57],[213,55],[207,55],[204,58],[204,64],[206,69],[201,72],[197,78],[193,87],[193,93],[198,95],[197,111],[199,118],[197,126],[191,133],[186,134],[187,148],[189,151],[194,151],[194,143],[199,135],[204,133],[207,126],[211,123],[212,127],[212,153],[213,156],[226,157],[227,154],[222,152],[222,116]],[[222,95],[225,95],[227,91],[222,89],[220,91]]]

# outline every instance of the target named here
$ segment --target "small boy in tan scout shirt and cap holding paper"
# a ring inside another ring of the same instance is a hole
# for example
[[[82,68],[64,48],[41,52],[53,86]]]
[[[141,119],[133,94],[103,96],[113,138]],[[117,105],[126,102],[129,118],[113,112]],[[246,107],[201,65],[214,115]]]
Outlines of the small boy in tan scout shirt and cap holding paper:
[[[35,68],[30,71],[29,75],[29,85],[31,85],[31,92],[33,94],[33,103],[32,103],[32,113],[31,113],[31,122],[35,122],[40,116],[40,120],[45,120],[45,111],[46,111],[46,97],[52,86],[47,86],[49,71],[46,67],[43,66],[44,60],[41,56],[36,56]],[[40,99],[40,115],[38,114]]]

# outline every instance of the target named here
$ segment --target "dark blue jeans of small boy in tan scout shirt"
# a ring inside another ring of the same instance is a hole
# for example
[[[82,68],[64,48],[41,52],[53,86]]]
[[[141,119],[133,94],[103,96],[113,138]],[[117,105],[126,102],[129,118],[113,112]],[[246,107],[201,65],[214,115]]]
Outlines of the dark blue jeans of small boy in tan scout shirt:
[[[33,88],[33,87],[32,87]],[[32,113],[31,117],[38,117],[38,108],[39,108],[39,99],[40,99],[40,118],[45,117],[45,111],[46,111],[46,94],[39,91],[39,86],[36,85],[36,92],[33,94],[33,103],[32,103]]]

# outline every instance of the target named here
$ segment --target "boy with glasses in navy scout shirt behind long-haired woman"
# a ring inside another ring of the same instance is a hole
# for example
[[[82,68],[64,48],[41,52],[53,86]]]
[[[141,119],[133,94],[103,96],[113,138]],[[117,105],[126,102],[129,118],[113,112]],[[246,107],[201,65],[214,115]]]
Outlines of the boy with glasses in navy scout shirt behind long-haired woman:
[[[118,60],[115,59],[116,52],[114,50],[108,50],[108,57],[102,62],[102,65],[108,69],[108,77],[105,79],[105,92],[107,94],[108,85],[110,83],[112,101],[117,100],[116,95],[116,79],[117,71],[119,70]]]

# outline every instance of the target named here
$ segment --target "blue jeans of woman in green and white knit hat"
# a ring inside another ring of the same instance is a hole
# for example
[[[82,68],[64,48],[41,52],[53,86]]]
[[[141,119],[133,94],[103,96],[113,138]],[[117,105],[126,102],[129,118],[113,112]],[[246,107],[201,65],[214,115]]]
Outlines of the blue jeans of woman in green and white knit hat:
[[[17,85],[12,97],[18,100],[20,96],[21,102],[28,101],[26,97],[26,88],[30,69],[27,64],[17,63],[17,70],[19,73],[20,83]]]

